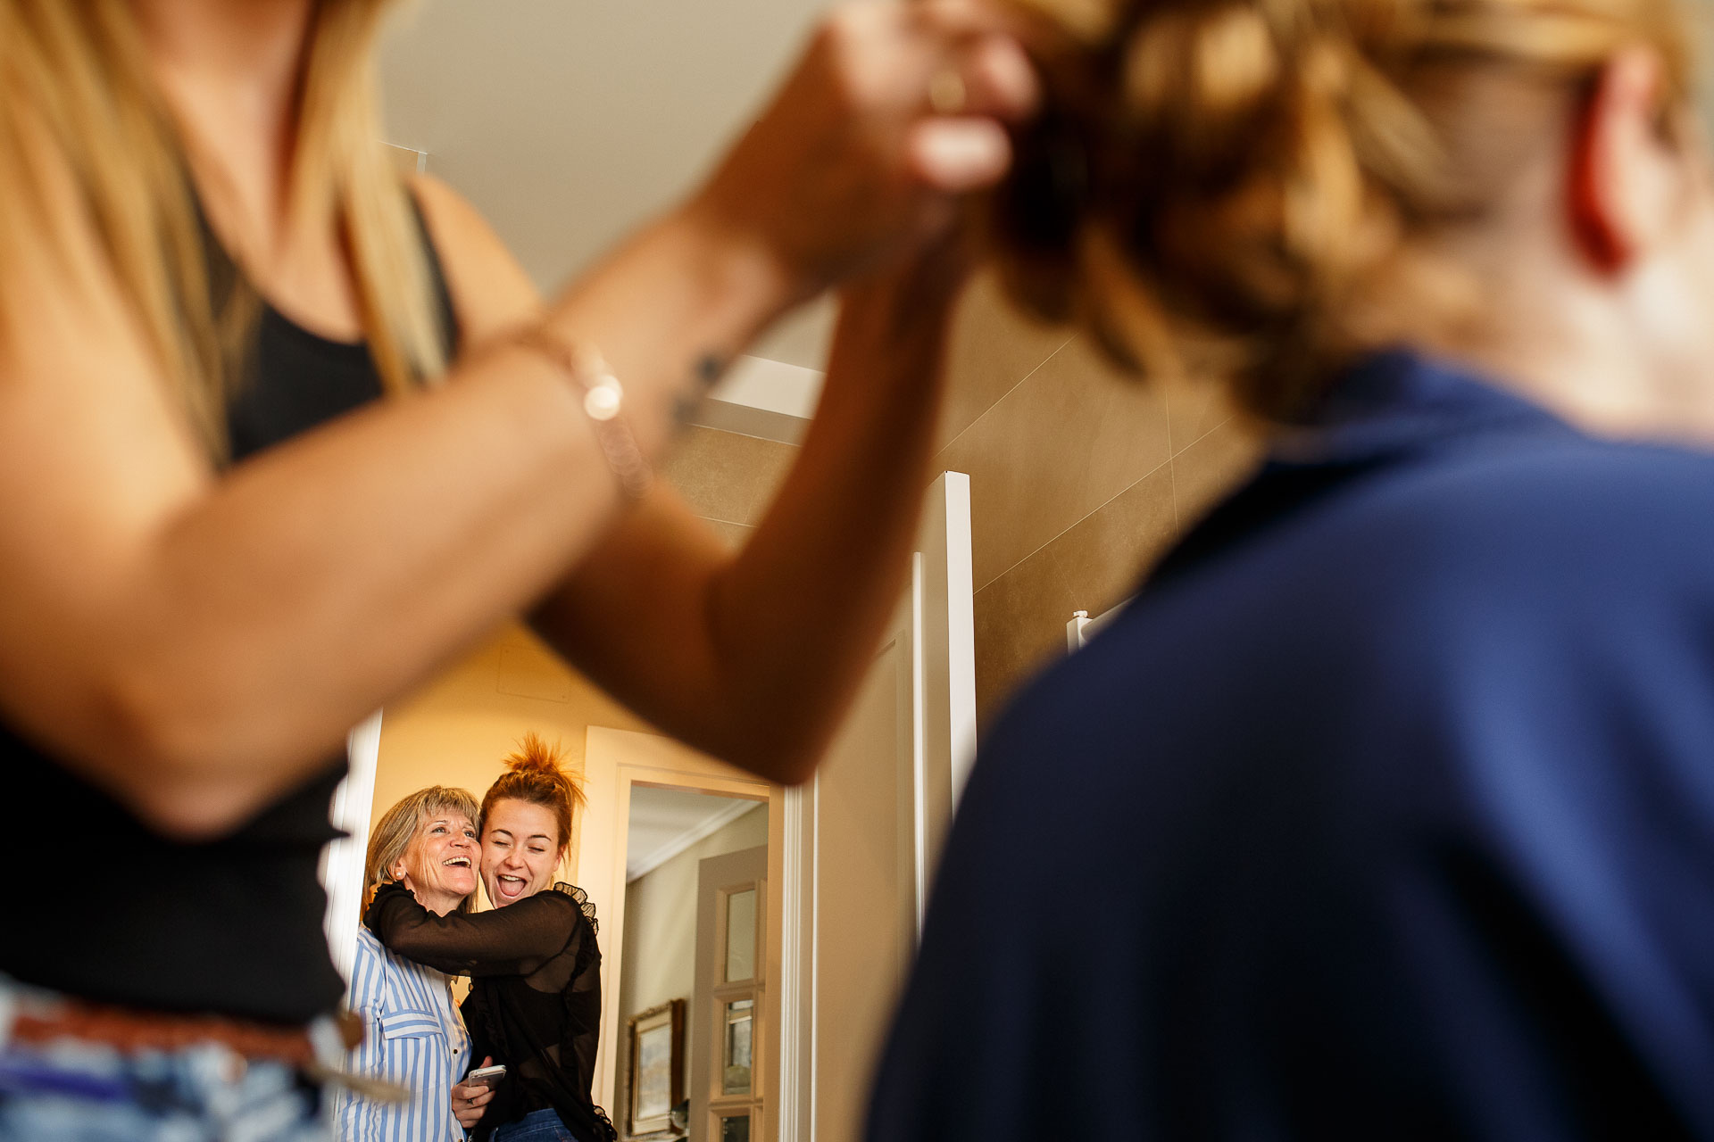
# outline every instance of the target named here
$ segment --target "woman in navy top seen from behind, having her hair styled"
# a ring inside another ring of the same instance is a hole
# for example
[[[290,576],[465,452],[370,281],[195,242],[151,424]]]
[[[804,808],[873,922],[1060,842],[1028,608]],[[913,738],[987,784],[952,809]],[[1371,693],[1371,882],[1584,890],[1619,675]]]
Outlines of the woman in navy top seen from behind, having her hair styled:
[[[1272,454],[987,733],[869,1137],[1714,1139],[1680,14],[1030,12],[1016,293]]]

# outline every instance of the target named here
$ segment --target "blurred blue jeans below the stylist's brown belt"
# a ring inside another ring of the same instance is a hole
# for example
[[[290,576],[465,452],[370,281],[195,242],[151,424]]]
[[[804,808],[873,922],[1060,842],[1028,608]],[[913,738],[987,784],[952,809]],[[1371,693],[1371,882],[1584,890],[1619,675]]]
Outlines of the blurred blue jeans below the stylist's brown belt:
[[[0,976],[0,1142],[329,1142],[317,1092],[286,1063],[219,1044],[9,1043],[26,996],[43,993]]]

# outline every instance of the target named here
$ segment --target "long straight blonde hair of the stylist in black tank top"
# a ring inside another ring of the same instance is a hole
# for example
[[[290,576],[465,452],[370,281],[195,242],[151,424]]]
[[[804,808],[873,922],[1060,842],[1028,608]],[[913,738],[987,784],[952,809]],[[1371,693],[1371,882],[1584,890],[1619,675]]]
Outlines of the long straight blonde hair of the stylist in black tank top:
[[[446,361],[417,223],[381,144],[372,57],[389,5],[314,7],[290,207],[338,226],[370,354],[387,390],[403,392]],[[31,146],[43,135],[75,180],[77,205],[163,373],[223,457],[254,305],[214,308],[185,146],[127,0],[0,0],[0,257],[10,245],[3,231],[51,217]]]

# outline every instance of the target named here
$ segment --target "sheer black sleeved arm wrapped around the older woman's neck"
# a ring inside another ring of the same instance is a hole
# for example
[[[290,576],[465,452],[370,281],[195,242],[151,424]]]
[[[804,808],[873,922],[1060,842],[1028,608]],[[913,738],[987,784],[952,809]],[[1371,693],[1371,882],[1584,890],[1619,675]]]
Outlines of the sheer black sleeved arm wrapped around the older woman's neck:
[[[382,885],[363,923],[399,955],[449,976],[528,976],[583,933],[578,902],[564,892],[435,916],[401,883]]]

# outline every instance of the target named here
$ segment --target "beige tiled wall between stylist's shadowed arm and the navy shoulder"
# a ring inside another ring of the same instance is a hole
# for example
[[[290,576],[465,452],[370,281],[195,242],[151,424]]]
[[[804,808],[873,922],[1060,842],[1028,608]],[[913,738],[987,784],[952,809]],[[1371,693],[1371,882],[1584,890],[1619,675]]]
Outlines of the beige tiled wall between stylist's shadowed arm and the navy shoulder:
[[[960,306],[936,471],[970,476],[977,705],[1064,652],[1064,627],[1143,570],[1250,469],[1210,389],[1140,385],[1087,337],[1030,324],[991,281]]]

